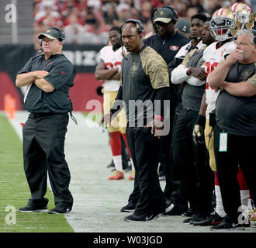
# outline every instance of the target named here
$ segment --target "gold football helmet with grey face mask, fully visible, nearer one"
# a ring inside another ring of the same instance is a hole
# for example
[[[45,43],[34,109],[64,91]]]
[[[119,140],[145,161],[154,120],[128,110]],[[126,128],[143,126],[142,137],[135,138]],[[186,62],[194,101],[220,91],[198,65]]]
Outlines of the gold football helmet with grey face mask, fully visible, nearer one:
[[[221,8],[213,13],[209,21],[209,30],[216,40],[231,39],[239,30],[239,22],[231,9]]]

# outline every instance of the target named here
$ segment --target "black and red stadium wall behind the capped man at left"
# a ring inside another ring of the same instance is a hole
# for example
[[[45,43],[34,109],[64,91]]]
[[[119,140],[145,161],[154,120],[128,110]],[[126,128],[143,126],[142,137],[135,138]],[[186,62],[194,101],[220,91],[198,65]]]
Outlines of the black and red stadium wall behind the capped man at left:
[[[97,94],[97,88],[103,83],[94,77],[95,66],[99,62],[99,50],[104,45],[73,45],[64,44],[63,53],[74,64],[77,76],[70,97],[74,111],[87,111],[89,101],[95,99],[102,103],[102,96]],[[16,110],[24,109],[22,102],[26,88],[15,85],[17,72],[26,64],[30,57],[35,56],[33,44],[29,45],[0,45],[0,110],[4,110],[5,95],[16,99]]]

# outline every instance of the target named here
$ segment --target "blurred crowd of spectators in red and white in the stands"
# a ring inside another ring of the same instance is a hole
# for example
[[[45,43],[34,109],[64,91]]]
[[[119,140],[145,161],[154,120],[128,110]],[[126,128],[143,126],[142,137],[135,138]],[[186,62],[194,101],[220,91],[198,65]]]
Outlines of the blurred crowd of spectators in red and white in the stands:
[[[216,9],[234,2],[251,5],[253,0],[34,0],[34,33],[36,37],[50,26],[64,29],[66,43],[104,44],[112,26],[120,26],[126,19],[140,19],[145,36],[153,32],[151,12],[154,8],[171,5],[179,19],[196,13],[212,15]]]

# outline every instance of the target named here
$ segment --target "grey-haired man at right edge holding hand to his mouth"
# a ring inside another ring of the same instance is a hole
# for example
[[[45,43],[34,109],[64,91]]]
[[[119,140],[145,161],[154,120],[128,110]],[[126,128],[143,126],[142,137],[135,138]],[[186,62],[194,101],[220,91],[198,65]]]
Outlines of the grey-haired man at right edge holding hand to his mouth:
[[[256,36],[248,29],[237,33],[236,49],[209,75],[209,86],[220,88],[216,99],[214,153],[223,207],[227,216],[211,229],[244,229],[238,165],[256,202]]]

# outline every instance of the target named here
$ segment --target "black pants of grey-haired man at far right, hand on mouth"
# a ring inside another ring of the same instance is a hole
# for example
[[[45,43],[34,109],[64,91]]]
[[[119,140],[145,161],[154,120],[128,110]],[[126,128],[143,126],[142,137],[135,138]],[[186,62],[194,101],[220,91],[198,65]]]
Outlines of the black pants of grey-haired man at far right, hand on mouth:
[[[216,125],[214,128],[216,171],[224,210],[232,222],[237,222],[241,214],[240,186],[237,181],[238,164],[244,174],[251,198],[256,202],[254,175],[256,136],[237,136],[227,132],[227,152],[219,152],[220,133],[222,132],[223,129]]]

